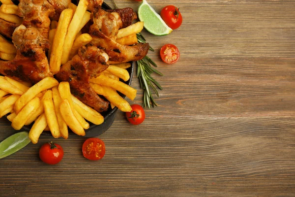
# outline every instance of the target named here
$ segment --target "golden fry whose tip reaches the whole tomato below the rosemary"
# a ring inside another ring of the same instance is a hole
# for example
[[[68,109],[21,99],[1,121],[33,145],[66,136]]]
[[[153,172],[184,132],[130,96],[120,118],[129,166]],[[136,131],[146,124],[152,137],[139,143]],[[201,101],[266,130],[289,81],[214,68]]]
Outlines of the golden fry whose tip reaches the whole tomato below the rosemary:
[[[94,92],[96,92],[96,94],[104,96],[111,103],[113,103],[116,107],[118,107],[119,110],[121,110],[123,112],[129,112],[132,110],[130,104],[125,99],[120,97],[120,95],[118,95],[116,90],[114,90],[113,88],[106,87],[106,86],[100,86],[100,85],[93,84],[93,83],[91,83],[90,85],[91,85],[92,89],[94,90]]]

